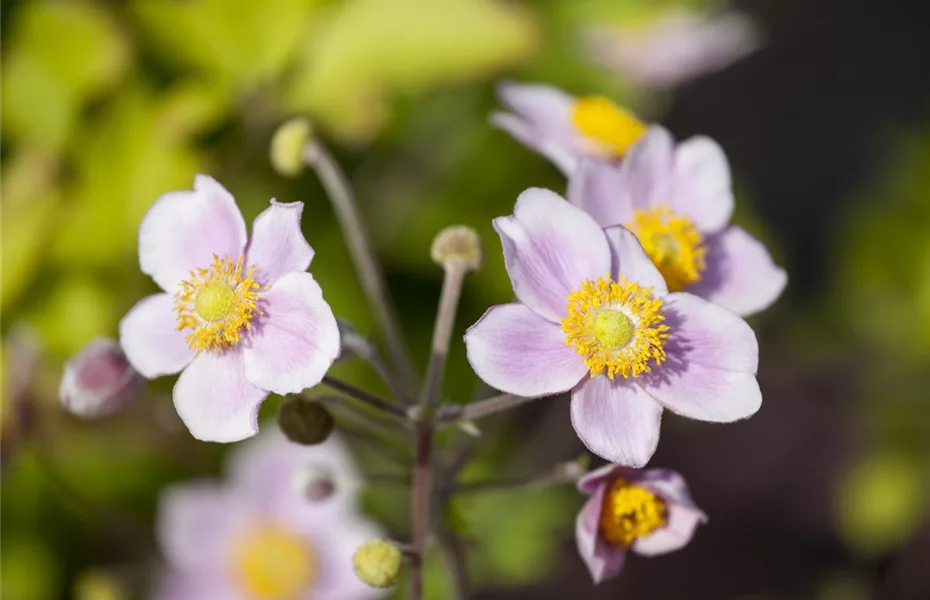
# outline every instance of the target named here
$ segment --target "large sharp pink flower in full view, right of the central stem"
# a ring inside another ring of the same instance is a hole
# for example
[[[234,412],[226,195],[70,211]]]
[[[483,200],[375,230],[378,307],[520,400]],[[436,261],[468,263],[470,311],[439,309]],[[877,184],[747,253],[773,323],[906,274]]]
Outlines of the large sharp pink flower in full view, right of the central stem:
[[[572,390],[572,425],[595,454],[644,465],[662,409],[702,421],[753,415],[759,347],[732,312],[668,293],[632,233],[602,231],[557,194],[530,189],[494,220],[519,303],[465,334],[485,382],[519,396]]]

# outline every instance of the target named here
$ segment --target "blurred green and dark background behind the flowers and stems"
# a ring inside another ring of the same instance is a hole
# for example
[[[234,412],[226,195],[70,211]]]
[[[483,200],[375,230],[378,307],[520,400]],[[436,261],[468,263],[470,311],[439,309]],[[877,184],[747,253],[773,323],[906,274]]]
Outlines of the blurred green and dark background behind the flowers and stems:
[[[927,3],[18,0],[0,8],[0,33],[3,600],[144,597],[159,490],[220,472],[227,447],[190,437],[170,379],[99,421],[58,402],[63,361],[115,336],[155,289],[136,255],[152,201],[205,172],[247,221],[270,197],[305,202],[312,271],[337,316],[370,333],[317,180],[268,160],[276,127],[310,117],[350,175],[423,365],[433,235],[461,223],[485,239],[461,333],[510,298],[490,219],[524,188],[564,192],[555,168],[489,126],[502,79],[604,94],[679,138],[717,139],[736,220],[789,286],[752,319],[761,412],[663,424],[652,464],[681,471],[710,515],[695,541],[595,588],[572,489],[469,495],[454,520],[479,597],[930,598]],[[450,361],[445,393],[468,401],[479,388],[462,344]],[[359,365],[337,369],[379,389]],[[476,479],[583,451],[564,398],[485,428]],[[406,503],[403,490],[365,493],[401,538]],[[429,577],[431,597],[448,597],[438,561]]]

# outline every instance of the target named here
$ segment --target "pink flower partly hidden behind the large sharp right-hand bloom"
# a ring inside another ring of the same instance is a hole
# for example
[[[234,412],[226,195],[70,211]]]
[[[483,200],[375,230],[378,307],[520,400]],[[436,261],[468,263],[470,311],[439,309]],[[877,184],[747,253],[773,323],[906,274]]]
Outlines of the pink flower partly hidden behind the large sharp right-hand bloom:
[[[670,291],[750,315],[775,302],[788,282],[765,246],[728,225],[730,167],[710,138],[676,146],[665,129],[652,127],[620,166],[582,161],[568,200],[601,227],[635,233]]]

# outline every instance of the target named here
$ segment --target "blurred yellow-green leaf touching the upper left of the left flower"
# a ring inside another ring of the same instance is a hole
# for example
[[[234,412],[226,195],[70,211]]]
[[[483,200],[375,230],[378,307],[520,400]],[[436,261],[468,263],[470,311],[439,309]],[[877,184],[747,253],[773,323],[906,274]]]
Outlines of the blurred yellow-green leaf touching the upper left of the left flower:
[[[202,159],[187,136],[219,110],[217,99],[196,87],[164,96],[127,88],[79,140],[64,227],[53,247],[57,261],[72,268],[134,264],[142,217],[160,194],[192,186]]]

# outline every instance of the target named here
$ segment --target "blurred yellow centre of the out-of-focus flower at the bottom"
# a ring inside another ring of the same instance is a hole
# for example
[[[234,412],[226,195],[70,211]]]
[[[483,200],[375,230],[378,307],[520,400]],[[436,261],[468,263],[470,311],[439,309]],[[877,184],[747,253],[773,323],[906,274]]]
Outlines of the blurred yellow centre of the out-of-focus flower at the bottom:
[[[318,576],[317,556],[286,529],[263,527],[243,536],[233,555],[234,578],[248,598],[297,600]]]

